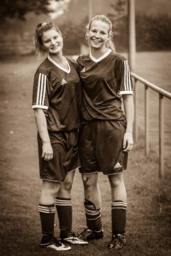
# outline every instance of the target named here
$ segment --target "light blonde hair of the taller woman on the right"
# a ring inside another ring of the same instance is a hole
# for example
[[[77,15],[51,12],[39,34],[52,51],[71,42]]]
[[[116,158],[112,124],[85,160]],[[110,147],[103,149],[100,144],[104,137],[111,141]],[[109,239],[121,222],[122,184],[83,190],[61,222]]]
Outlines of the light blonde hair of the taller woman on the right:
[[[107,18],[105,15],[101,14],[101,15],[96,15],[94,16],[91,21],[89,21],[89,23],[87,24],[86,28],[86,40],[88,41],[88,36],[87,33],[89,32],[91,26],[92,26],[92,21],[103,21],[105,23],[107,23],[109,25],[109,40],[106,42],[106,47],[110,48],[112,51],[116,52],[116,47],[114,45],[113,42],[113,32],[112,32],[112,24],[111,21],[109,20],[109,18]]]

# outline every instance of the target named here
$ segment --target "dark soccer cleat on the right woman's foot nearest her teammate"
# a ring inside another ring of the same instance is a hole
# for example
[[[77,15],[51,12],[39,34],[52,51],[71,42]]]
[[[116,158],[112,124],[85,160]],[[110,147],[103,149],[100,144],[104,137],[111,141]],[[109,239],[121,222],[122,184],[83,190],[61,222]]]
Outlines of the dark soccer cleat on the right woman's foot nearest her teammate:
[[[78,237],[82,240],[94,240],[101,239],[104,237],[104,230],[90,230],[89,228],[85,228],[82,233],[78,234]]]

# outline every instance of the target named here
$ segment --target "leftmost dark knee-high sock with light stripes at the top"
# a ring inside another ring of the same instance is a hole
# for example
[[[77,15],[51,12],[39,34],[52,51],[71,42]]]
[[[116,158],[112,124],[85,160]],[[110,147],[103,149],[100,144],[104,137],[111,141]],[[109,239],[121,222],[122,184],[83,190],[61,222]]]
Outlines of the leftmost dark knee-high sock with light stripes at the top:
[[[40,221],[42,226],[42,234],[44,237],[53,236],[54,220],[55,220],[55,205],[45,206],[39,204],[38,211],[40,213]]]

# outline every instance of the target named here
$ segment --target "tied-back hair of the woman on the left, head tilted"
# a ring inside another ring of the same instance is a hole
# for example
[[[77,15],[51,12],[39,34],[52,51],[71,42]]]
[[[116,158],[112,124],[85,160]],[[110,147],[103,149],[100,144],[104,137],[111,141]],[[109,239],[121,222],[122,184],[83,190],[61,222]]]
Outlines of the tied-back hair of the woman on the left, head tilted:
[[[60,29],[57,27],[55,23],[46,23],[46,22],[40,22],[35,28],[35,36],[34,36],[34,44],[35,44],[35,58],[39,60],[41,57],[45,57],[47,55],[46,50],[43,48],[43,42],[42,42],[42,36],[45,31],[48,31],[50,29],[55,29],[57,33],[62,36],[62,33]]]

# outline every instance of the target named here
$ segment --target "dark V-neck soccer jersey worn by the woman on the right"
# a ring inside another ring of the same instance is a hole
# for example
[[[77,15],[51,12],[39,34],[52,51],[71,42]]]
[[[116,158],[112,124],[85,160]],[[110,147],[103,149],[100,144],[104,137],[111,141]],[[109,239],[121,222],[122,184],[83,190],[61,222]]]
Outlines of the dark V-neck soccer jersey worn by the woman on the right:
[[[108,50],[101,58],[90,54],[77,58],[82,81],[82,121],[123,120],[121,95],[133,94],[128,60]]]

